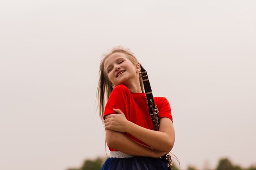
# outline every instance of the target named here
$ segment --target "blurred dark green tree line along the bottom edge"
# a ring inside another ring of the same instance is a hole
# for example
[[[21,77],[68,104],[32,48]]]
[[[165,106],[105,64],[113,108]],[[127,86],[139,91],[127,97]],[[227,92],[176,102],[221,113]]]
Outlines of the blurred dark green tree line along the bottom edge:
[[[96,159],[86,159],[81,166],[81,168],[69,168],[67,170],[99,170],[106,158],[98,157]],[[173,170],[179,170],[178,166],[173,165]],[[196,167],[189,166],[187,170],[198,170]],[[227,158],[222,158],[219,160],[218,165],[214,169],[203,169],[203,170],[256,170],[256,166],[251,166],[249,168],[242,168],[238,165],[234,165]]]

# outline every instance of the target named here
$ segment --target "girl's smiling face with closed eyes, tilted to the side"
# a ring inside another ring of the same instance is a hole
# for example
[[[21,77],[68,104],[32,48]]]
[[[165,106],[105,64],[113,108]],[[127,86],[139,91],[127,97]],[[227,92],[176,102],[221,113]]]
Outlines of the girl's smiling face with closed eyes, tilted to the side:
[[[108,56],[104,63],[104,69],[115,86],[120,84],[129,86],[132,82],[139,80],[139,64],[133,64],[126,54],[121,52]]]

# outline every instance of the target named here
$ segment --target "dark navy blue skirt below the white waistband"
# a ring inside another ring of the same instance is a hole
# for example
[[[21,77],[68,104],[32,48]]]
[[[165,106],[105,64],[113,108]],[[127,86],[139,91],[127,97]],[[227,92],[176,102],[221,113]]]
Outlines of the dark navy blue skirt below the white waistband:
[[[167,170],[166,163],[160,158],[129,157],[108,158],[101,170]]]

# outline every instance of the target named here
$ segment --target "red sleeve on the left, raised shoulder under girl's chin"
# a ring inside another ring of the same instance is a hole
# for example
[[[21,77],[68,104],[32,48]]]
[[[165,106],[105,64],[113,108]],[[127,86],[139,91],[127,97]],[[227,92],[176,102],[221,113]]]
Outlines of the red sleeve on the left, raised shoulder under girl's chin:
[[[125,85],[118,85],[112,90],[108,98],[108,102],[105,106],[104,115],[103,115],[104,120],[107,115],[116,114],[115,111],[113,111],[113,109],[120,109],[124,113],[126,118],[128,118],[128,114],[129,114],[128,93],[129,92],[130,92],[129,89]]]

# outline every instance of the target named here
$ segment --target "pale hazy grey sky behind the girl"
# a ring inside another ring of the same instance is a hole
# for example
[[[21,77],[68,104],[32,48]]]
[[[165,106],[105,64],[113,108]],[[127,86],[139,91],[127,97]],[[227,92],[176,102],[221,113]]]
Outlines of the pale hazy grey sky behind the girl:
[[[256,165],[255,0],[0,2],[0,169],[65,170],[105,155],[103,52],[122,45],[165,96],[181,169]]]

